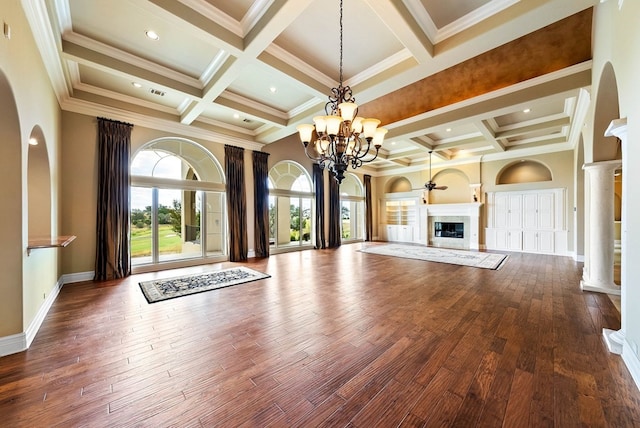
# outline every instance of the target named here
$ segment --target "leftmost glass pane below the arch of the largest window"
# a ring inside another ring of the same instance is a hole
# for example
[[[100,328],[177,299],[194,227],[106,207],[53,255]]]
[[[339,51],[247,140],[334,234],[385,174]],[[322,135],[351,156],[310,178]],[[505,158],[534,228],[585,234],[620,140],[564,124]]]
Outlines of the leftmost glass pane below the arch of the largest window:
[[[151,228],[151,199],[153,190],[131,188],[131,264],[152,262],[153,234]]]

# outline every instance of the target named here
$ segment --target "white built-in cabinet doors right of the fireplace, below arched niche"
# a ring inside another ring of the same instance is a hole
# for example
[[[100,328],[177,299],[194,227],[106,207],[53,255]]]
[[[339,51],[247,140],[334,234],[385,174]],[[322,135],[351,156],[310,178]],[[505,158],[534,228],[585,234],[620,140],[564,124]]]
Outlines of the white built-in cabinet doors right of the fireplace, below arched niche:
[[[564,189],[487,193],[487,249],[565,254],[564,207]]]

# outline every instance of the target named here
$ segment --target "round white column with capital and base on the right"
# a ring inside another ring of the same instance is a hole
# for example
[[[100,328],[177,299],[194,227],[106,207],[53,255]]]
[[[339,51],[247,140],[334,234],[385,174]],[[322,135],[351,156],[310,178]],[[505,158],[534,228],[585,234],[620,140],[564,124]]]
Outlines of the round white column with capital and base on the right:
[[[622,166],[619,160],[594,162],[582,168],[587,173],[588,218],[587,240],[589,252],[585,257],[585,269],[580,288],[620,294],[620,287],[613,281],[614,260],[614,173]]]

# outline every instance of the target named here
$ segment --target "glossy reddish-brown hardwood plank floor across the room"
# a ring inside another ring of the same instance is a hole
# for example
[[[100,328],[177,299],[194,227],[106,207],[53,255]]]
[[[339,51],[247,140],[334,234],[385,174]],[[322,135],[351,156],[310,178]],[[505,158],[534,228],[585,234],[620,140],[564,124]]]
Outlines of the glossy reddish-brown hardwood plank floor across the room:
[[[249,260],[271,278],[148,304],[138,282],[63,287],[0,359],[0,426],[633,427],[640,392],[570,258],[498,271],[357,250]]]

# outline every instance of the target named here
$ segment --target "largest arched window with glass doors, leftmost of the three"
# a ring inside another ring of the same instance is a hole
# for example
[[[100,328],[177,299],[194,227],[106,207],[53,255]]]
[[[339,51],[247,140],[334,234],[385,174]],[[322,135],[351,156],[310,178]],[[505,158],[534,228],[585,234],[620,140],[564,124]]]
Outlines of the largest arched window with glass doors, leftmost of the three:
[[[132,267],[225,259],[223,177],[215,157],[192,141],[141,147],[131,161]]]

